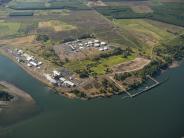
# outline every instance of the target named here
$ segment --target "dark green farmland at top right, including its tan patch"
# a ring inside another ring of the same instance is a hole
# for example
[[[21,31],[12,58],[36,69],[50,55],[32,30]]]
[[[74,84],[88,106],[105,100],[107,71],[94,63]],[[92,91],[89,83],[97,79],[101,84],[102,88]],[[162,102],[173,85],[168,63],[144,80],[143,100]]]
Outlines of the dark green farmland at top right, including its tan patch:
[[[127,2],[109,1],[108,6],[97,7],[96,10],[108,18],[135,19],[149,18],[170,24],[184,26],[184,5],[181,1],[147,1]]]

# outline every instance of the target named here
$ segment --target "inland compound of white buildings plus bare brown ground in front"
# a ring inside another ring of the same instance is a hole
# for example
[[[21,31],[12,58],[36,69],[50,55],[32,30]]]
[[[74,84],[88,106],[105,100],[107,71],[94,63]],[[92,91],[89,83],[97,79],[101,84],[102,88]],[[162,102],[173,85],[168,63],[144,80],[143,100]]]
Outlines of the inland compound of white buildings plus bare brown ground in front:
[[[83,60],[110,50],[110,45],[98,39],[87,38],[57,45],[54,50],[61,61],[66,61],[66,59]]]

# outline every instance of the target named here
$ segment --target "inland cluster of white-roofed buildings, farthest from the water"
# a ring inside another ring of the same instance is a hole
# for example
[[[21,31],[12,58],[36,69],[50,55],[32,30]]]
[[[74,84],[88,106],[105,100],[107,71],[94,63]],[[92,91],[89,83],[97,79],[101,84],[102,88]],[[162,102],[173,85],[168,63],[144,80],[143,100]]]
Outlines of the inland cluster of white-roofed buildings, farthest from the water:
[[[72,51],[76,51],[76,52],[88,47],[94,47],[100,51],[106,51],[109,49],[109,46],[107,45],[106,42],[100,41],[98,39],[76,40],[76,41],[67,42],[64,45],[70,47]]]

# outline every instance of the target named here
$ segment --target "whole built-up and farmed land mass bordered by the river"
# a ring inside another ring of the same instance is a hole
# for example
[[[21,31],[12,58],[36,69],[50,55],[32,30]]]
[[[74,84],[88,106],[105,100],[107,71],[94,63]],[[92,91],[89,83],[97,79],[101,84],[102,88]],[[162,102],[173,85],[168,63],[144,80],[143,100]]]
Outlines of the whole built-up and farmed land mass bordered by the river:
[[[69,98],[127,92],[184,57],[183,3],[136,3],[3,2],[0,51]]]

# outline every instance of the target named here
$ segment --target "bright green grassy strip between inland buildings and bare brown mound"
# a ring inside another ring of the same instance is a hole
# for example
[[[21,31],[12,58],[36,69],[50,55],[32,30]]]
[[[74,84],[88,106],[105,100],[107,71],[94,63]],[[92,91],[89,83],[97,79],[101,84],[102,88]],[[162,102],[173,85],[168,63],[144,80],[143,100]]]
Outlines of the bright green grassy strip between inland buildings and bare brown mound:
[[[135,58],[134,55],[129,56],[127,58],[123,58],[121,55],[112,56],[109,58],[101,58],[97,61],[91,60],[83,60],[83,61],[75,61],[69,62],[65,64],[65,67],[70,69],[71,71],[84,70],[87,66],[90,66],[90,70],[97,75],[104,75],[106,73],[107,68],[111,68],[114,65],[133,60]]]

